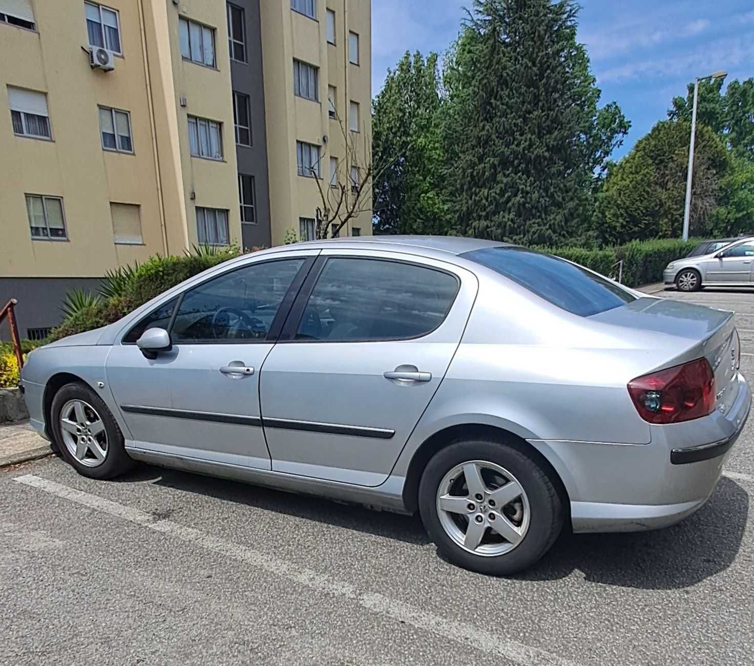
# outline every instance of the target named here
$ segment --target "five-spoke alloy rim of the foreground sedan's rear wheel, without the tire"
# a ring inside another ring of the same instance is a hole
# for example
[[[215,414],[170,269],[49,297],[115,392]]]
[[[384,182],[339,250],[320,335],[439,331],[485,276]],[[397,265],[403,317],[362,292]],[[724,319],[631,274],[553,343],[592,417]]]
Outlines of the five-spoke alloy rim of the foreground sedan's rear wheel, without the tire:
[[[505,554],[526,536],[529,498],[505,469],[485,460],[453,467],[437,489],[437,515],[461,548],[486,557]]]

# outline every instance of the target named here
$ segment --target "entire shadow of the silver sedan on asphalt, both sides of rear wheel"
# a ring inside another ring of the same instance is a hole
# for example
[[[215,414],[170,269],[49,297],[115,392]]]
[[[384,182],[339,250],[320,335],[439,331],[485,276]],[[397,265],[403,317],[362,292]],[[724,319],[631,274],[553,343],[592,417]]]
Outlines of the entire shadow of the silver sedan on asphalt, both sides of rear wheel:
[[[398,539],[410,545],[431,543],[418,516],[373,511],[315,496],[147,465],[121,478],[121,482],[129,481],[153,481],[187,493]],[[605,585],[686,588],[731,566],[743,539],[748,513],[746,490],[722,477],[709,501],[679,524],[636,533],[574,535],[564,530],[541,561],[515,578],[547,581],[581,572],[587,581]]]

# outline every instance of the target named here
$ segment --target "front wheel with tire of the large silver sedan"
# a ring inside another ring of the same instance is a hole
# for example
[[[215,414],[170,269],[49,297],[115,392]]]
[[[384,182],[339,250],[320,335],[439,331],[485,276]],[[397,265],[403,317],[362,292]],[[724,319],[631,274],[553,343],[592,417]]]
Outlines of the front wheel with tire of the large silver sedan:
[[[89,478],[114,478],[135,466],[135,461],[126,453],[118,422],[103,399],[87,384],[74,382],[63,386],[53,398],[50,414],[60,455],[79,474]],[[85,423],[83,427],[77,427],[82,423]],[[82,438],[87,441],[83,442]]]

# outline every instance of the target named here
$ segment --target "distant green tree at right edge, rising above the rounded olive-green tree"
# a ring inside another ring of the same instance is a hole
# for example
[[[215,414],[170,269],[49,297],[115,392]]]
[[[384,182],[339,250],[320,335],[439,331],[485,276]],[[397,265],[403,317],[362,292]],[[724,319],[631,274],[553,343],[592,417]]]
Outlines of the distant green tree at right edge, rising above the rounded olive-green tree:
[[[700,81],[697,123],[711,127],[739,157],[754,161],[754,78],[731,81],[722,92],[723,79]],[[674,97],[667,112],[671,120],[691,122],[694,84],[684,97]]]

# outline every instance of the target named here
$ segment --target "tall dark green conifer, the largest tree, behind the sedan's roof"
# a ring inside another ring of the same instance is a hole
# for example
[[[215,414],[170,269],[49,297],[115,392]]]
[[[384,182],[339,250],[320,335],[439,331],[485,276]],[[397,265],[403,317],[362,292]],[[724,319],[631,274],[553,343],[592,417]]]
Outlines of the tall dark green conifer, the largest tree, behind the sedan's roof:
[[[458,231],[557,245],[584,231],[630,127],[576,41],[571,0],[474,0],[443,82],[446,183]]]

